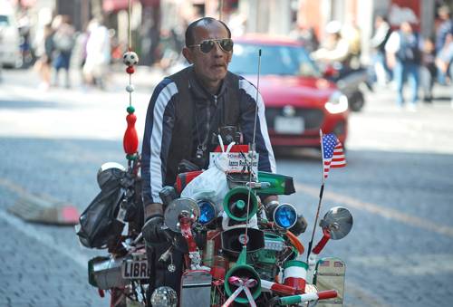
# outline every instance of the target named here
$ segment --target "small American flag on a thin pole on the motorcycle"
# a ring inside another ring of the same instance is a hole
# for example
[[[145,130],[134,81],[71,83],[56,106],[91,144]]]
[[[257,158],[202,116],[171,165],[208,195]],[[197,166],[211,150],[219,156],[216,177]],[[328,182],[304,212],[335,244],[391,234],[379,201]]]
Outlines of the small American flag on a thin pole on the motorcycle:
[[[342,143],[333,133],[323,135],[323,168],[324,179],[329,176],[331,168],[343,168],[346,159],[342,150]]]

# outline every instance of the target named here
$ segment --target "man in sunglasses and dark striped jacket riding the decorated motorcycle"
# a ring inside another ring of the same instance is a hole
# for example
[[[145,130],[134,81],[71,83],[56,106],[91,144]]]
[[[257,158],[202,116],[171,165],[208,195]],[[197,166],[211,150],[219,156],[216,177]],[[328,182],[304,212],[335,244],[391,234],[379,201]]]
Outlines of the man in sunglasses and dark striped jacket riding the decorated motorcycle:
[[[175,183],[182,159],[207,168],[208,153],[216,147],[212,136],[222,126],[236,126],[244,143],[251,143],[257,105],[258,169],[275,172],[263,99],[259,93],[256,95],[252,83],[227,71],[233,41],[226,24],[210,17],[189,24],[182,53],[191,66],[165,78],[155,88],[143,137],[141,177],[146,221],[143,235],[149,265],[152,267],[153,262],[156,265],[149,293],[162,285],[179,290],[183,253],[173,249],[171,259],[176,270],[169,270],[155,260],[171,245],[161,229],[164,210],[159,191]],[[263,204],[271,201],[276,201],[276,197],[266,197]]]

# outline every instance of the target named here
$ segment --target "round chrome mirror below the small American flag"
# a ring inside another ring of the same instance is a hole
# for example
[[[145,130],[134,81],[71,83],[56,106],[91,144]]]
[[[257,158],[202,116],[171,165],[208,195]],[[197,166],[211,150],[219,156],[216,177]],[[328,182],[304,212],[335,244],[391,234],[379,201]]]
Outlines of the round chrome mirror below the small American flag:
[[[319,223],[323,229],[329,230],[333,240],[340,240],[348,235],[352,224],[351,212],[342,206],[335,206],[330,209]]]

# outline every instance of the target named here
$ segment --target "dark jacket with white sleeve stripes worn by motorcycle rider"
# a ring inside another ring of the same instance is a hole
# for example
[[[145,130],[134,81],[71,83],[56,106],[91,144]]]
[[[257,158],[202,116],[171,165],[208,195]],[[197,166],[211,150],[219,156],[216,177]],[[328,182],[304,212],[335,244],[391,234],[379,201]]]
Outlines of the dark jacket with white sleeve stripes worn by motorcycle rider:
[[[255,86],[231,72],[227,72],[217,96],[200,85],[191,66],[160,82],[149,101],[143,137],[144,204],[161,203],[159,191],[175,183],[178,163],[183,158],[193,160],[198,145],[207,140],[207,152],[214,149],[212,134],[218,127],[237,126],[244,135],[244,143],[251,143],[255,98]],[[255,143],[258,169],[275,172],[261,95],[258,95]]]

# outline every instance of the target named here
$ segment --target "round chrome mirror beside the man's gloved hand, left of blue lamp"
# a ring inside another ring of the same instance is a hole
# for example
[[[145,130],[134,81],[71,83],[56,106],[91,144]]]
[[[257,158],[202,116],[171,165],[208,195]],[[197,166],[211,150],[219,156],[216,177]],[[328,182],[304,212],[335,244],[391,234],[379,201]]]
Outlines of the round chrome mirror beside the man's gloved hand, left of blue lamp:
[[[180,233],[181,228],[179,227],[179,216],[188,216],[193,220],[198,220],[199,207],[197,202],[192,198],[177,198],[169,203],[169,206],[165,209],[164,222],[170,230],[175,233]]]

